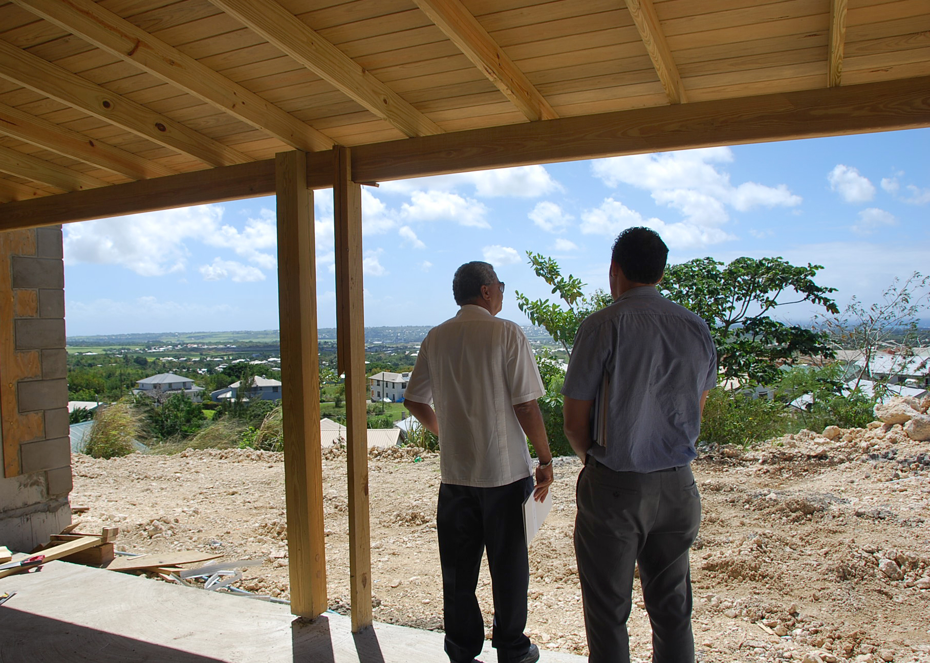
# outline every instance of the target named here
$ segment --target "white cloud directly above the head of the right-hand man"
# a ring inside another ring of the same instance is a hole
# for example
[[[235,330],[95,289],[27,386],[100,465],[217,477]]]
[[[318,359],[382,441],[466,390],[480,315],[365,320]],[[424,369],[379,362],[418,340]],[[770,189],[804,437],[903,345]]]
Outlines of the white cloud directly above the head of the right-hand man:
[[[630,209],[613,198],[581,215],[581,232],[616,237],[621,231],[633,226],[646,226],[662,235],[672,249],[697,248],[719,244],[735,239],[719,228],[707,228],[695,223],[666,223],[661,219],[644,219],[639,212]]]

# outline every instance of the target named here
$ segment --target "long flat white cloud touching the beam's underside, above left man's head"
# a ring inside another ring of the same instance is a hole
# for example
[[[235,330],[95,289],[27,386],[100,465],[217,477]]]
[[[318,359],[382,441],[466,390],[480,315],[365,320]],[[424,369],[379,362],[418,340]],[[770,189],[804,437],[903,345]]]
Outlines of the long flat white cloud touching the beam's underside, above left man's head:
[[[516,166],[495,168],[472,173],[436,175],[428,178],[398,179],[381,182],[381,190],[392,193],[418,191],[453,192],[460,187],[474,187],[475,195],[482,197],[515,196],[536,198],[553,191],[562,191],[562,185],[552,179],[543,166]]]

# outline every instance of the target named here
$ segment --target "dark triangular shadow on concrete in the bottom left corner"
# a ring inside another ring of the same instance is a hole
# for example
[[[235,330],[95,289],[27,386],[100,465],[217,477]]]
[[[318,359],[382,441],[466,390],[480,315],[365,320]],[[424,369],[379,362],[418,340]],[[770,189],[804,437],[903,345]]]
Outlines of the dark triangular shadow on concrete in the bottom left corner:
[[[80,605],[74,606],[75,612]],[[0,606],[0,661],[3,663],[221,663],[219,658],[146,643],[105,630]]]

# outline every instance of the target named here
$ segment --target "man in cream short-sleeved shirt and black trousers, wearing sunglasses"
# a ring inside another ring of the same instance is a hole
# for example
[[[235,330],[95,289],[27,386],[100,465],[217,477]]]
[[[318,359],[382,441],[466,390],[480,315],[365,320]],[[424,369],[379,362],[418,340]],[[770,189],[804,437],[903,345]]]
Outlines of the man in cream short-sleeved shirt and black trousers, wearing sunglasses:
[[[534,497],[542,499],[552,482],[536,402],[545,390],[523,330],[495,317],[504,284],[494,268],[477,261],[462,265],[452,292],[461,309],[423,340],[405,391],[410,414],[439,436],[436,534],[445,653],[457,663],[471,663],[481,653],[485,623],[475,588],[486,547],[498,662],[532,663],[539,651],[524,634],[529,563],[523,502],[533,492],[526,438],[539,457]]]

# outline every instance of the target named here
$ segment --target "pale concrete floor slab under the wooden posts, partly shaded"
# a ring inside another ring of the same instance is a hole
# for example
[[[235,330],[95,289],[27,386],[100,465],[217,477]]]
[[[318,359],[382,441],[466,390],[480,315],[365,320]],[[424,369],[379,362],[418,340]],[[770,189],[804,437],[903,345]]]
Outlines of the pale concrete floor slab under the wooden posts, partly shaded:
[[[295,622],[286,605],[51,562],[0,578],[0,661],[45,663],[445,663],[443,634],[376,623],[352,634],[327,613]],[[485,662],[497,655],[485,643]],[[546,663],[581,656],[543,652]]]

